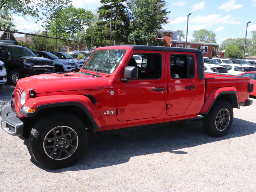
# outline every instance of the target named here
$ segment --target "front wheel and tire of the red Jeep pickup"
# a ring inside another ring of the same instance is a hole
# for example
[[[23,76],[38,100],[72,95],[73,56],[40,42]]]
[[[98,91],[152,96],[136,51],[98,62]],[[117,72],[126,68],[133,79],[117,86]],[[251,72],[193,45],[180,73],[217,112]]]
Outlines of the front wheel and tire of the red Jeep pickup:
[[[60,169],[78,161],[87,141],[87,131],[78,118],[57,113],[41,118],[34,125],[29,147],[38,163],[49,169]]]

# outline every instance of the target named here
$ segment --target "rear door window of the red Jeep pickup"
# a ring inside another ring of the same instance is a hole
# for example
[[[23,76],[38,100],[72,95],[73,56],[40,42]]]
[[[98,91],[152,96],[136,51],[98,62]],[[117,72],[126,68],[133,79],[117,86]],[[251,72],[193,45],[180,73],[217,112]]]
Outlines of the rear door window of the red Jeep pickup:
[[[193,55],[170,56],[171,78],[194,78],[195,62]]]

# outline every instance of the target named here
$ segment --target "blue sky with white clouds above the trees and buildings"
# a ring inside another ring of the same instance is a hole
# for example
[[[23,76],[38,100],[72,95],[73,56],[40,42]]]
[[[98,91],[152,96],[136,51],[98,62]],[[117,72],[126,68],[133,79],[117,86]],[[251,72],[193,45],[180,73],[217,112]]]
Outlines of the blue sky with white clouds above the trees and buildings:
[[[247,38],[251,37],[251,31],[256,30],[256,0],[215,0],[215,1],[171,1],[165,0],[169,23],[163,28],[165,30],[183,30],[186,35],[187,15],[189,16],[188,41],[192,40],[194,30],[206,29],[216,34],[218,44],[228,38],[245,38],[246,24],[248,24]],[[101,6],[99,0],[73,0],[75,8],[84,8],[95,12]],[[254,16],[253,16],[254,15]],[[19,31],[43,30],[41,25],[45,23],[35,23],[34,18],[13,15],[15,25]],[[183,39],[185,40],[185,39]]]

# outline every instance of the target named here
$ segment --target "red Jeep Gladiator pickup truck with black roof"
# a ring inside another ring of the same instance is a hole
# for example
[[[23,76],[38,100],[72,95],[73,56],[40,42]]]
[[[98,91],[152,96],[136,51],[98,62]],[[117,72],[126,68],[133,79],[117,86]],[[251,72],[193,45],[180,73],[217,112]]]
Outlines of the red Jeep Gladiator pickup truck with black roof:
[[[101,47],[79,72],[20,79],[15,102],[1,106],[1,127],[11,135],[29,137],[34,158],[58,169],[82,156],[89,130],[202,115],[206,131],[221,137],[231,127],[233,108],[252,104],[251,91],[249,77],[205,74],[201,50]]]

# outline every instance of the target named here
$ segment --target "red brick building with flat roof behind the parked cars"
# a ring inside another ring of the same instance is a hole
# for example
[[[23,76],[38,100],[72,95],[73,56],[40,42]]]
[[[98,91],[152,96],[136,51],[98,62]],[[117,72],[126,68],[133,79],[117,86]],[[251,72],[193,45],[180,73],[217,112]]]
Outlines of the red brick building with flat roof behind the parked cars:
[[[180,36],[180,30],[158,30],[157,39],[162,39],[162,41],[165,41],[166,47],[184,47],[186,45],[186,41],[179,41]],[[200,42],[187,42],[187,48],[191,49],[201,49],[203,51],[204,57],[214,57],[216,55],[215,51],[213,49],[213,46],[219,46],[217,43],[204,43],[202,41]]]

